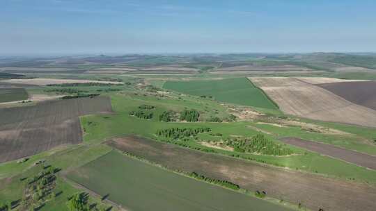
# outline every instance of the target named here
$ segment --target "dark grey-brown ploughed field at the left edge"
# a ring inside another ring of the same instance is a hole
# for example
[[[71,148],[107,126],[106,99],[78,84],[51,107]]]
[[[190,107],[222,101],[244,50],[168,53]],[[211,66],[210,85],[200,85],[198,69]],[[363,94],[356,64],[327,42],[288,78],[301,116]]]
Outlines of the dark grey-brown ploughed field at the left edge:
[[[111,112],[107,97],[45,101],[0,109],[0,162],[82,141],[79,116]]]

